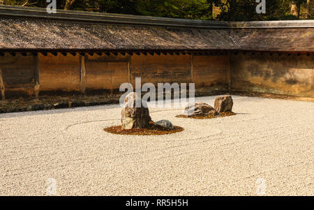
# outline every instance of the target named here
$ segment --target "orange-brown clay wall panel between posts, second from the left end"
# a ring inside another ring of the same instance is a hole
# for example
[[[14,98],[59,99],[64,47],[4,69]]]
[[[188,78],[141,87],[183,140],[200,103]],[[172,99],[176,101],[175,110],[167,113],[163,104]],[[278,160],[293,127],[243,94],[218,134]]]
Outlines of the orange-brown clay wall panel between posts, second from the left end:
[[[80,56],[38,54],[40,91],[80,91]]]

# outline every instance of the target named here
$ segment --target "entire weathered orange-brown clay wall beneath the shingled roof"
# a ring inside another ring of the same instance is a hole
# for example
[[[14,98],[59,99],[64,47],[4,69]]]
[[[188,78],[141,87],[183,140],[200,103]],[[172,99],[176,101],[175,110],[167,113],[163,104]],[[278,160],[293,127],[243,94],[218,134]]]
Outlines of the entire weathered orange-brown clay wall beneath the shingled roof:
[[[229,59],[228,59],[229,57]],[[81,59],[80,59],[81,58]],[[84,59],[84,63],[80,63]],[[0,57],[1,75],[8,98],[15,95],[33,96],[35,70],[39,72],[41,95],[119,89],[120,84],[142,78],[142,84],[151,82],[195,82],[197,93],[215,91],[262,92],[291,96],[314,97],[314,56],[311,54],[238,54],[220,56],[200,55],[121,55],[68,54],[54,56]],[[82,65],[86,76],[81,78]],[[14,93],[14,94],[13,94]],[[89,92],[87,92],[89,93]]]

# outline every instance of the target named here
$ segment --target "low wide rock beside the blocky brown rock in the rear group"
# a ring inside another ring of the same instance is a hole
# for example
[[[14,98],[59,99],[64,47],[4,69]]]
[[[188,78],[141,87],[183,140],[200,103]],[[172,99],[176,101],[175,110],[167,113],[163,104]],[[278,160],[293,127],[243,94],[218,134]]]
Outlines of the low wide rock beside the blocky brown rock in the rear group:
[[[218,114],[216,110],[214,110],[213,107],[208,105],[207,103],[195,103],[187,105],[184,108],[184,115],[188,117],[194,117],[194,116],[205,116],[207,114]]]

